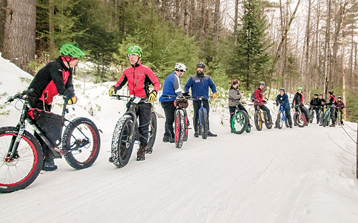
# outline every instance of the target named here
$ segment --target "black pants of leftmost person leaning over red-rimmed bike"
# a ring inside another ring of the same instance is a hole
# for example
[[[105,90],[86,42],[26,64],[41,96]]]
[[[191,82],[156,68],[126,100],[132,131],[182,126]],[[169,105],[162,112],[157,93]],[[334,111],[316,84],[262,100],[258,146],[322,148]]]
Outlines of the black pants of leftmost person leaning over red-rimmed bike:
[[[45,110],[45,111],[51,111],[50,104],[46,104],[43,101],[41,101],[37,98],[31,97],[31,96],[29,96],[29,104],[30,104],[30,107],[32,107],[32,108],[38,108],[38,109]],[[42,147],[42,151],[43,151],[43,155],[44,155],[44,165],[53,166],[54,161],[53,161],[52,151],[50,150],[50,148],[48,148],[47,144],[45,144],[45,142],[42,140],[40,135],[37,134],[36,131],[34,132],[34,136],[37,138],[37,140],[39,141],[39,143]]]

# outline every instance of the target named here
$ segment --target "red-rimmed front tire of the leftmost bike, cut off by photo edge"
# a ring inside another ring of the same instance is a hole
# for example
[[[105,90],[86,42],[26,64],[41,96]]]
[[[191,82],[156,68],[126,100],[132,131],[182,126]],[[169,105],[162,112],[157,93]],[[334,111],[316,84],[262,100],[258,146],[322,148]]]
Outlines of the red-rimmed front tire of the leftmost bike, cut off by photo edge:
[[[18,134],[18,128],[10,127],[10,126],[9,127],[1,127],[0,128],[0,135],[2,135],[2,136],[0,136],[0,142],[2,141],[1,137],[6,136],[4,134],[6,134],[6,135],[11,135],[11,134],[17,135]],[[24,138],[26,138],[26,140],[24,140]],[[23,132],[22,140],[24,140],[26,143],[27,143],[27,141],[31,142],[32,145],[29,145],[29,146],[33,146],[33,148],[32,148],[33,152],[36,151],[36,154],[34,154],[34,155],[36,155],[37,160],[34,159],[34,162],[36,161],[36,163],[33,163],[32,169],[30,170],[30,172],[32,171],[32,174],[31,175],[26,175],[23,178],[23,179],[27,178],[26,180],[24,180],[21,183],[12,185],[12,186],[6,186],[6,184],[3,184],[0,181],[0,193],[9,193],[9,192],[13,192],[13,191],[16,191],[16,190],[21,190],[21,189],[29,186],[30,184],[32,184],[36,180],[37,176],[39,176],[39,174],[40,174],[40,171],[41,171],[42,166],[43,166],[43,152],[42,152],[42,148],[40,146],[39,141],[35,138],[35,136],[33,136],[28,131]],[[4,145],[3,143],[0,143],[0,155],[1,156],[5,155],[5,154],[2,154],[3,149],[5,149],[5,152],[7,152],[7,150],[8,150],[8,148],[2,148],[3,145]],[[20,155],[20,158],[21,158],[21,154],[19,154],[19,155]],[[3,165],[3,164],[5,165],[5,159],[3,159],[3,157],[1,157],[1,158],[2,158],[2,160],[0,160],[0,166]],[[1,172],[0,172],[0,174],[1,174]],[[2,179],[2,177],[3,176],[0,176],[1,179]],[[21,179],[21,180],[23,180],[23,179]],[[19,182],[21,180],[19,180]]]

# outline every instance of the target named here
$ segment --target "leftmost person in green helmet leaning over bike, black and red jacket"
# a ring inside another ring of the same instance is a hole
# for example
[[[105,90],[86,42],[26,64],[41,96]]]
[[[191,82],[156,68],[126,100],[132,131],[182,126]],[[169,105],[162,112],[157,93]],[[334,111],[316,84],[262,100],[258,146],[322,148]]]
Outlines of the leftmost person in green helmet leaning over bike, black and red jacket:
[[[77,97],[74,94],[72,71],[78,63],[78,58],[85,53],[78,47],[67,43],[61,47],[60,54],[60,57],[39,70],[31,81],[29,89],[34,89],[34,91],[28,95],[30,107],[51,111],[53,97],[58,94],[71,98],[69,104],[76,103]],[[44,153],[42,170],[56,170],[57,165],[54,164],[52,151],[36,132],[34,135],[40,142]]]

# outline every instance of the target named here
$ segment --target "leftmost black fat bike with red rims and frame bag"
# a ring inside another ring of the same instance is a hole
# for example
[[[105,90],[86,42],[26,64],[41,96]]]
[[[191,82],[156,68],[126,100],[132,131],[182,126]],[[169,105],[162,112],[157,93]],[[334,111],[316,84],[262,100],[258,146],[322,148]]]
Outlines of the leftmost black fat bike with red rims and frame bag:
[[[23,106],[16,126],[0,128],[0,193],[13,192],[29,186],[42,169],[43,150],[37,138],[25,130],[27,123],[35,129],[54,158],[64,156],[74,169],[89,168],[99,154],[100,136],[96,125],[84,117],[72,121],[65,118],[69,98],[64,97],[60,116],[29,107],[27,94],[33,91],[30,89],[10,96],[5,102],[21,101]],[[68,123],[67,126],[65,123]],[[63,127],[65,130],[62,133]],[[56,128],[57,134],[53,134],[51,128]]]

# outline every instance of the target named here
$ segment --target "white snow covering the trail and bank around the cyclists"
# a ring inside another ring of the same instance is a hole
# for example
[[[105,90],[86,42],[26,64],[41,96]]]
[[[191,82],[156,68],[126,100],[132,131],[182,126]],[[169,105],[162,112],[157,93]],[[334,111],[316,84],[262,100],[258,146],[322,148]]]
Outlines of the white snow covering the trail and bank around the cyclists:
[[[20,77],[31,76],[3,58],[0,67],[3,104],[29,85]],[[153,154],[141,162],[133,154],[118,169],[107,159],[125,102],[107,96],[113,82],[86,83],[85,91],[83,81],[74,83],[79,100],[67,117],[88,117],[102,130],[97,161],[78,171],[57,159],[57,171],[41,172],[29,187],[0,194],[1,222],[358,222],[354,144],[340,127],[264,127],[234,135],[228,114],[222,124],[218,109],[210,113],[216,138],[194,138],[190,130],[177,149],[161,142],[164,119],[158,118]],[[61,103],[58,97],[53,111],[60,113]],[[1,126],[15,125],[18,111],[6,109],[11,113],[0,116]],[[155,111],[163,116],[159,104]]]

